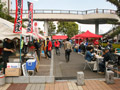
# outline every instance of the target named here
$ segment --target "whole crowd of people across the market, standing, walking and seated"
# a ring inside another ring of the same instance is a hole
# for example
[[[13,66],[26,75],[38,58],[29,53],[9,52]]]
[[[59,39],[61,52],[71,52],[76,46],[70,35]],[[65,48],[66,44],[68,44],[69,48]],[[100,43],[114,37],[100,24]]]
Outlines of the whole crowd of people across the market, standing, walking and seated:
[[[112,60],[116,61],[114,53],[120,51],[119,49],[115,49],[115,51],[113,51],[112,44],[110,44],[109,42],[107,43],[107,46],[103,48],[99,44],[99,40],[94,40],[90,42],[88,39],[86,39],[86,40],[80,40],[79,42],[78,41],[73,42],[73,40],[69,40],[68,38],[63,41],[58,39],[50,40],[49,38],[46,38],[46,40],[40,40],[39,42],[38,40],[33,40],[32,42],[29,41],[26,43],[24,42],[24,38],[22,38],[20,43],[20,40],[10,40],[7,38],[3,41],[3,51],[2,51],[2,59],[1,59],[4,62],[3,73],[5,73],[6,64],[7,62],[9,62],[9,56],[12,55],[12,53],[15,53],[17,51],[19,52],[20,48],[24,56],[27,53],[31,53],[31,55],[33,55],[35,51],[37,53],[39,60],[40,60],[40,53],[42,50],[44,51],[45,57],[48,60],[50,60],[51,50],[55,48],[56,55],[60,56],[60,48],[62,46],[64,46],[66,62],[69,62],[70,53],[74,50],[75,52],[84,54],[85,60],[87,60],[88,62],[94,62],[93,71],[97,71],[96,55],[99,54],[101,57],[103,57],[102,62],[99,63],[100,74],[104,74],[106,68],[106,62]],[[100,50],[101,52],[97,53],[96,50]]]

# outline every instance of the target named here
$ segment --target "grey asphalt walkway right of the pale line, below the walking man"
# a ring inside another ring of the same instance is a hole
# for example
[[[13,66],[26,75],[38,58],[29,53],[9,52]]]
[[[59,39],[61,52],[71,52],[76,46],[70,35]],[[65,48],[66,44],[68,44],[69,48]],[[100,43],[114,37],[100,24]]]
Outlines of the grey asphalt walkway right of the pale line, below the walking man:
[[[71,53],[70,61],[66,63],[64,50],[61,49],[61,55],[54,55],[54,76],[56,79],[75,79],[78,71],[83,71],[84,57],[75,52]],[[86,79],[104,78],[97,72],[92,72],[88,67],[84,71]]]

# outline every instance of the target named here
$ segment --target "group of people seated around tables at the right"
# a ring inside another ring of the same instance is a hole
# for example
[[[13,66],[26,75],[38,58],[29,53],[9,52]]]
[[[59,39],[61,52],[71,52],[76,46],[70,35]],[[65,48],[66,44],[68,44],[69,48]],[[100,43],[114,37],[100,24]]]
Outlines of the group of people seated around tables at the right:
[[[107,42],[106,47],[102,47],[99,44],[99,40],[93,40],[92,42],[88,40],[79,41],[78,44],[75,43],[74,45],[75,52],[81,52],[85,55],[85,60],[88,62],[94,62],[93,71],[97,71],[97,56],[103,57],[103,60],[99,63],[99,73],[104,74],[106,70],[106,62],[112,62],[118,64],[118,58],[116,58],[114,53],[118,53],[119,49],[113,49],[113,46],[111,43]],[[97,51],[100,51],[97,53]]]

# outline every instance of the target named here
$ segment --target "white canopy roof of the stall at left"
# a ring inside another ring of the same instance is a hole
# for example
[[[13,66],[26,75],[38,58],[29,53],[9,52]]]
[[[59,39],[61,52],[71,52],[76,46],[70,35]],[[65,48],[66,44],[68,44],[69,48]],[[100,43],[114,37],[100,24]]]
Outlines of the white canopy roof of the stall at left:
[[[0,18],[0,40],[3,40],[5,38],[9,38],[9,39],[13,39],[13,38],[20,38],[20,34],[19,33],[13,33],[13,28],[14,28],[14,24]],[[22,29],[22,35],[23,36],[33,36],[34,38],[37,38],[36,36],[34,36],[31,33],[26,33],[26,30],[23,28]]]

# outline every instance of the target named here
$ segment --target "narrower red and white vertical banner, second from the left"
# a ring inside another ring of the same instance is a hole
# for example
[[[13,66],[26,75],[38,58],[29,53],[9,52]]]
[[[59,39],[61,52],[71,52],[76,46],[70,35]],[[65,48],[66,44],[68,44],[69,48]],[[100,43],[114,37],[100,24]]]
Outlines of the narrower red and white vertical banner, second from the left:
[[[28,2],[28,27],[27,33],[33,32],[33,3]]]

